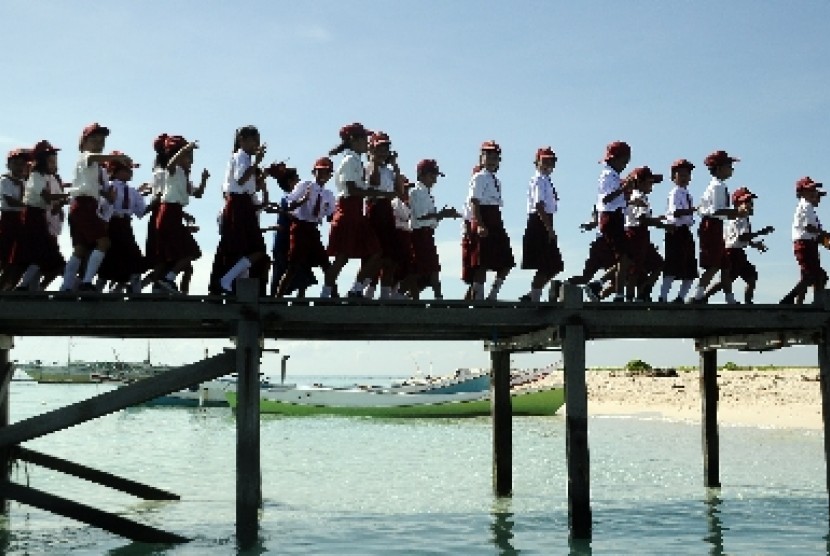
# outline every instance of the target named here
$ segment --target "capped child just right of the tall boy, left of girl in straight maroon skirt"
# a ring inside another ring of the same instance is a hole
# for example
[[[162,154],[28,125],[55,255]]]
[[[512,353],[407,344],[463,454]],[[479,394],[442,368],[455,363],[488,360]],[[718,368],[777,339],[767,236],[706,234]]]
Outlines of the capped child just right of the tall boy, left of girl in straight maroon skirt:
[[[654,218],[648,196],[655,183],[663,181],[663,174],[655,174],[648,166],[632,170],[626,178],[633,182],[625,210],[625,237],[631,256],[627,277],[626,301],[651,301],[651,290],[663,269],[663,257],[651,243],[648,227],[663,227],[665,216]]]

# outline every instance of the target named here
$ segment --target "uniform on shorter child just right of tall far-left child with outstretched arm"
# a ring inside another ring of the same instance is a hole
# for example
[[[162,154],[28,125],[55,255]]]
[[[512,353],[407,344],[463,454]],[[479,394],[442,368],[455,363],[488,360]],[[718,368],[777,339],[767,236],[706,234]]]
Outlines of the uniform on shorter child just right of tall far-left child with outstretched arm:
[[[126,182],[112,180],[110,190],[115,195],[115,200],[110,204],[110,248],[101,262],[98,276],[104,280],[124,283],[148,269],[132,226],[133,216],[143,217],[147,205],[141,194]]]

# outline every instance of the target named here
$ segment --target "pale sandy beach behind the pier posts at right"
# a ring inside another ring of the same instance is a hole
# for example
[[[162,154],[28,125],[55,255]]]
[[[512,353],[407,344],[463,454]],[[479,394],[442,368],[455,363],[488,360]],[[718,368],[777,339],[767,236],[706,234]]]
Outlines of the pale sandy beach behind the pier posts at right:
[[[562,372],[548,380],[562,381]],[[589,370],[589,415],[630,415],[700,423],[698,371],[643,376],[625,370]],[[816,368],[721,370],[718,421],[725,426],[822,428]],[[564,408],[567,412],[567,405]]]

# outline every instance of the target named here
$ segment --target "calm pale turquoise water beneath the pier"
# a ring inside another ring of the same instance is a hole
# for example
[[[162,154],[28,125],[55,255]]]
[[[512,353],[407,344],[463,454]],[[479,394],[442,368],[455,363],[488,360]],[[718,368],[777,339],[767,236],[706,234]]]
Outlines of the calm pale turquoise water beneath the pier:
[[[12,420],[107,389],[15,382]],[[725,486],[707,492],[697,426],[592,418],[589,432],[594,535],[569,542],[562,417],[515,421],[510,499],[491,492],[487,418],[263,418],[261,542],[249,553],[830,553],[821,433],[723,427]],[[0,527],[0,552],[237,553],[230,410],[135,408],[27,446],[182,499],[145,502],[23,464],[13,472],[16,482],[193,541],[135,544],[12,502]]]

